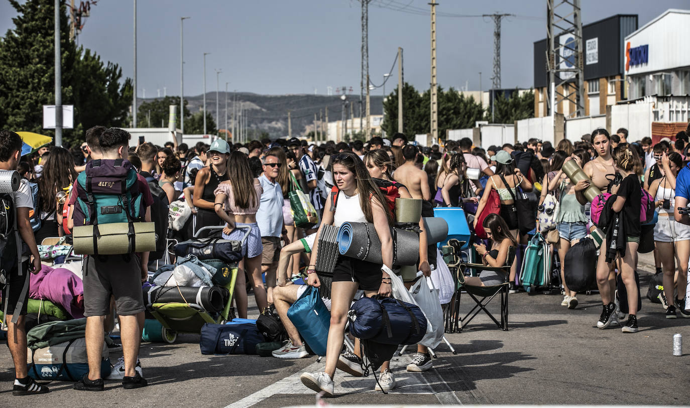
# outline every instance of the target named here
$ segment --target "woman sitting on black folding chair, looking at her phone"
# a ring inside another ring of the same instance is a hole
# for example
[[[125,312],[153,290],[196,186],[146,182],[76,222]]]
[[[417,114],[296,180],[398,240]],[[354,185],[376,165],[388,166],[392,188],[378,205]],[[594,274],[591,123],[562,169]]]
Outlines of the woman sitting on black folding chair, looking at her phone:
[[[484,244],[474,244],[477,253],[483,258],[484,265],[502,267],[506,265],[510,247],[517,247],[517,242],[508,229],[508,225],[498,214],[489,214],[482,223],[486,236],[491,239],[491,250],[487,250]],[[514,252],[513,252],[514,253]],[[513,260],[509,260],[512,263]],[[506,282],[505,274],[497,271],[482,271],[479,276],[467,276],[465,284],[470,286],[493,286]]]

